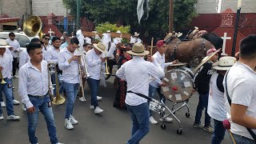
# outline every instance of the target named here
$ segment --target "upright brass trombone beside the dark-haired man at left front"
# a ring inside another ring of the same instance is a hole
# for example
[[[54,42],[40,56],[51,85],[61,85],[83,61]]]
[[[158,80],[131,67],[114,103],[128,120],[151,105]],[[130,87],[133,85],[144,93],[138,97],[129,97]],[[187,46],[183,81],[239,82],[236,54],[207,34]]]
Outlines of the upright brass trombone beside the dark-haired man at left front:
[[[57,66],[54,62],[48,63],[48,74],[49,74],[49,93],[52,98],[52,102],[54,105],[62,105],[65,102],[65,98],[59,94],[59,85],[58,85],[58,74],[57,74]],[[51,82],[51,74],[55,74],[55,82],[56,84],[52,84]],[[54,85],[56,86],[56,97],[54,97]]]

